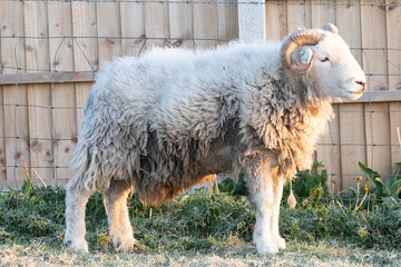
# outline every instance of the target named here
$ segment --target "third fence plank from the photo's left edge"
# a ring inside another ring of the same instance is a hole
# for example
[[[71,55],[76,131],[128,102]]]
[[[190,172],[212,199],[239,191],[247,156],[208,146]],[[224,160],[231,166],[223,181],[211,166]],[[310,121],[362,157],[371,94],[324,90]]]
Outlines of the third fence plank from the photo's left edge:
[[[49,36],[61,37],[49,40],[50,62],[53,71],[72,71],[74,68],[74,39],[72,36],[71,2],[48,2]],[[77,136],[76,107],[74,83],[51,83],[51,103],[53,127],[53,157],[55,178],[70,178],[72,172],[69,168]],[[71,107],[71,109],[58,109]]]

